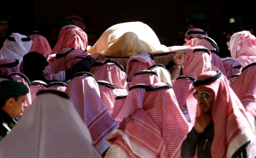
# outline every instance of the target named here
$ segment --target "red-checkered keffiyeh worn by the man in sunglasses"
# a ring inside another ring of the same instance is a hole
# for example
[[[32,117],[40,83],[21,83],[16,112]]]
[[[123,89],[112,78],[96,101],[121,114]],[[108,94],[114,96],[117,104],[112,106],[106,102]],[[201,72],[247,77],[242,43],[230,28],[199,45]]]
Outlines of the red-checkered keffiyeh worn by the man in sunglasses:
[[[208,79],[216,74],[216,71],[204,72],[199,75],[197,80]],[[212,118],[214,122],[214,138],[211,148],[212,157],[232,157],[234,152],[243,144],[249,140],[251,143],[254,142],[255,133],[252,130],[253,125],[250,125],[245,108],[243,108],[241,101],[232,88],[229,87],[229,81],[224,75],[203,86],[213,89],[215,94],[212,106]],[[193,96],[193,92],[187,99],[189,117],[191,117],[192,124],[195,123],[195,117],[200,115],[199,106]],[[253,155],[255,154],[253,151],[255,151],[255,146],[251,144],[251,155],[249,157],[256,156]]]

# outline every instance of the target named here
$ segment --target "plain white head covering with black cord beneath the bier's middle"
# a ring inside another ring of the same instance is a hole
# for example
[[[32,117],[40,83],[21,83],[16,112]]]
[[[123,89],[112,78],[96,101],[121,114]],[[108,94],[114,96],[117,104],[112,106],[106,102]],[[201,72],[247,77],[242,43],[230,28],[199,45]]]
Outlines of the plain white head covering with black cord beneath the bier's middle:
[[[148,67],[147,70],[156,72],[160,82],[172,84],[172,76],[164,65],[158,63]]]

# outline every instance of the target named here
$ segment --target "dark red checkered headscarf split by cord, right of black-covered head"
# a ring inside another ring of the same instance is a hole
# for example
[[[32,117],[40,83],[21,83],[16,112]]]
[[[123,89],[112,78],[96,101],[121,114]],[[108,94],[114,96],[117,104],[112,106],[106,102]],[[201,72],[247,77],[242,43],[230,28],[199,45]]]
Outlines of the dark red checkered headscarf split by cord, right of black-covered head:
[[[72,48],[63,48],[57,54],[64,54],[71,49]],[[49,67],[53,74],[57,74],[57,72],[63,71],[64,70],[64,57],[61,57],[61,58],[53,57],[53,59],[51,61],[49,61]]]

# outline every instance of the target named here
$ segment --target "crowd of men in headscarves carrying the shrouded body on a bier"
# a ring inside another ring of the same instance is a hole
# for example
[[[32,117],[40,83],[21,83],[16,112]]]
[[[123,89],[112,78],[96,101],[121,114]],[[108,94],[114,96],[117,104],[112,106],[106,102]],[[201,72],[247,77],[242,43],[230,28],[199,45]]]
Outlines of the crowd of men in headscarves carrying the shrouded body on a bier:
[[[207,25],[189,15],[180,50],[142,22],[113,25],[93,46],[79,16],[61,21],[53,49],[40,30],[11,33],[0,157],[256,157],[256,37],[230,17],[231,57],[220,58]]]

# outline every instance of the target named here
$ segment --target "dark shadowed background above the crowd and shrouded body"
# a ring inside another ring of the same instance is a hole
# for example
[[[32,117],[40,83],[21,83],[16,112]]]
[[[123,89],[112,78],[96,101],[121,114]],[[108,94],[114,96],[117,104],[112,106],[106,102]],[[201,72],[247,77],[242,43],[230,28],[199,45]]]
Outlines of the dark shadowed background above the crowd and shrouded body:
[[[220,56],[225,56],[226,51],[225,37],[221,33],[224,20],[228,16],[241,15],[246,22],[253,23],[255,17],[253,3],[234,0],[6,0],[1,4],[1,10],[10,13],[10,28],[24,35],[35,24],[54,25],[59,18],[74,14],[92,18],[89,29],[100,35],[114,24],[146,18],[155,33],[162,33],[170,45],[174,44],[177,33],[187,31],[187,16],[201,12],[209,19],[209,37],[220,46],[223,52]]]

